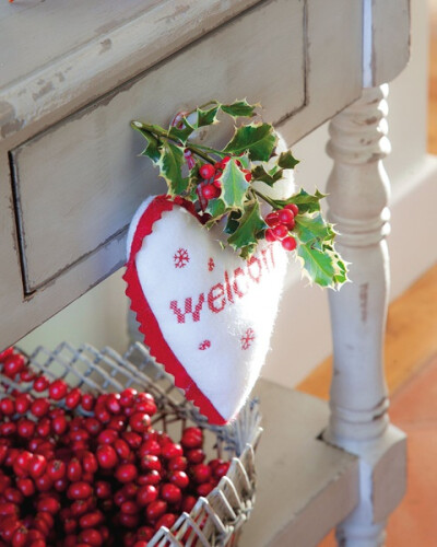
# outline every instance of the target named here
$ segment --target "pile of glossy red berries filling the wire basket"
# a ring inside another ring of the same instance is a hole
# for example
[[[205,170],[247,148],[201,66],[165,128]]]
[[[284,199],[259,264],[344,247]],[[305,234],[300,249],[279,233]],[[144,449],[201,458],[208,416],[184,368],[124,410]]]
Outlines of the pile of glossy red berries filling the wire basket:
[[[0,400],[0,547],[145,547],[228,470],[205,463],[200,428],[178,443],[153,429],[149,393],[82,393],[35,374],[13,348],[0,368],[37,393]]]

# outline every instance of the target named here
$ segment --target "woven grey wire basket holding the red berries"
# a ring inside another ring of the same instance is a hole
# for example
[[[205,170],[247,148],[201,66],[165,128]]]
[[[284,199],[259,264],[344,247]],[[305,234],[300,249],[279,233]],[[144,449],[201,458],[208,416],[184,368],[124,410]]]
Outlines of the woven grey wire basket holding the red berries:
[[[235,546],[255,503],[255,449],[261,433],[257,400],[246,404],[238,418],[226,427],[211,426],[174,386],[172,376],[150,357],[144,346],[133,344],[125,356],[111,348],[96,350],[90,345],[74,348],[68,342],[54,351],[38,347],[29,364],[49,380],[63,379],[71,387],[94,394],[121,392],[126,387],[145,391],[155,397],[158,410],[155,429],[173,438],[189,426],[203,429],[204,451],[231,459],[227,474],[188,513],[181,513],[172,528],[162,526],[147,543],[150,547]],[[32,392],[32,382],[15,384],[2,379],[0,398],[14,388]],[[36,394],[34,394],[36,395]],[[59,403],[62,405],[62,403]],[[86,414],[83,411],[83,414]]]

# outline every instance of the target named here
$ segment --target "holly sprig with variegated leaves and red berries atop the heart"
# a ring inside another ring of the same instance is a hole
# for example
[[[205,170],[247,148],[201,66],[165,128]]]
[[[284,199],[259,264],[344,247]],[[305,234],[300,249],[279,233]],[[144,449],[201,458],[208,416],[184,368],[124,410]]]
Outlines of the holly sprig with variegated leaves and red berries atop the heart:
[[[227,244],[243,258],[253,254],[259,241],[280,241],[296,252],[310,282],[339,288],[347,281],[347,264],[334,248],[333,225],[321,214],[320,200],[326,196],[299,189],[287,199],[274,199],[253,185],[260,181],[273,187],[298,163],[290,150],[276,152],[273,126],[263,121],[235,126],[222,150],[190,140],[198,129],[217,124],[221,113],[235,121],[255,117],[259,106],[246,100],[232,104],[214,100],[181,113],[167,129],[137,120],[131,126],[144,137],[141,155],[160,170],[169,196],[192,201],[206,228],[223,222]],[[271,207],[265,216],[261,202]]]

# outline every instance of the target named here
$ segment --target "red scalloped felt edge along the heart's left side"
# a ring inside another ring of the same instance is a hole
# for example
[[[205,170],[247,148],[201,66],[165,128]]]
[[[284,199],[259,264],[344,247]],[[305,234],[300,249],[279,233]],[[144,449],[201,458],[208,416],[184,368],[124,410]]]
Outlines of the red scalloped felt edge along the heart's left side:
[[[138,222],[126,272],[122,277],[127,282],[126,295],[131,301],[130,309],[137,314],[137,321],[140,323],[139,329],[144,335],[144,344],[150,348],[151,356],[164,365],[167,373],[174,376],[175,385],[184,389],[187,398],[199,408],[210,423],[224,426],[228,420],[223,418],[211,400],[201,392],[166,342],[158,322],[144,296],[137,271],[135,257],[144,238],[152,233],[153,224],[162,218],[163,212],[172,211],[175,206],[184,207],[199,220],[193,205],[179,197],[170,199],[168,196],[156,196],[149,203]]]

